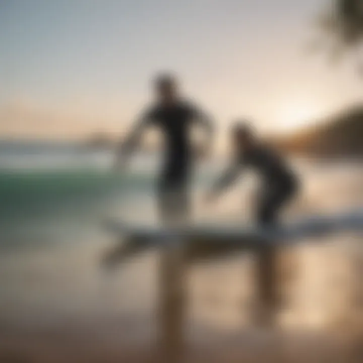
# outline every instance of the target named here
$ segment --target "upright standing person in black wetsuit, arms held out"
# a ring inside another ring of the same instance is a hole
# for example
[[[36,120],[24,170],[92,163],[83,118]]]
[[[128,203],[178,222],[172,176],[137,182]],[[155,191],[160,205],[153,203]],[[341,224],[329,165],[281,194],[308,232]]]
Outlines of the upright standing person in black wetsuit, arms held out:
[[[186,219],[190,214],[189,181],[193,166],[192,126],[206,131],[208,151],[213,135],[209,116],[193,103],[181,99],[176,80],[160,75],[155,80],[156,102],[143,112],[135,129],[120,147],[118,164],[124,163],[135,149],[142,133],[158,127],[165,138],[164,164],[158,181],[159,213],[163,221]]]

